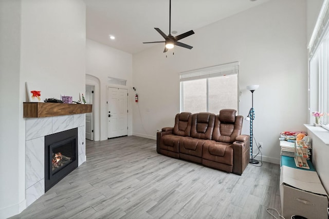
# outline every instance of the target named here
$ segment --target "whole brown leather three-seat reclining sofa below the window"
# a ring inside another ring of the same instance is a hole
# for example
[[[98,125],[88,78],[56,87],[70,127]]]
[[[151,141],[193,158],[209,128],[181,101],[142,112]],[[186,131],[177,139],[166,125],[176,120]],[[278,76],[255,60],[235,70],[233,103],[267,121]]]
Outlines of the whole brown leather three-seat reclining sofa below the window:
[[[235,114],[178,113],[174,127],[157,133],[157,152],[241,175],[249,163],[250,136],[241,135],[243,116]]]

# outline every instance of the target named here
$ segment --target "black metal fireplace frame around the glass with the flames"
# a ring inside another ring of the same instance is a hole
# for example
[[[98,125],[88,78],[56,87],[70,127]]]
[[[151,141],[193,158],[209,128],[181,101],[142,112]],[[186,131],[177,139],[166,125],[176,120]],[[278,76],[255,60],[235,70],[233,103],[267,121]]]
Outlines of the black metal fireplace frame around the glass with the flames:
[[[72,143],[73,160],[63,169],[52,174],[52,149]],[[78,128],[45,136],[45,192],[78,167]]]

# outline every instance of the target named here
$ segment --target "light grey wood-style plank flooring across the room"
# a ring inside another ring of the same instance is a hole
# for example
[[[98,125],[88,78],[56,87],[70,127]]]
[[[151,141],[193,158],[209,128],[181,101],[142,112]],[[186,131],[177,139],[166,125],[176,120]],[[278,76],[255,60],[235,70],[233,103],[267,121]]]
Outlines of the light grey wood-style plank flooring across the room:
[[[12,218],[273,218],[279,165],[242,176],[156,153],[156,141],[86,141],[87,161]]]

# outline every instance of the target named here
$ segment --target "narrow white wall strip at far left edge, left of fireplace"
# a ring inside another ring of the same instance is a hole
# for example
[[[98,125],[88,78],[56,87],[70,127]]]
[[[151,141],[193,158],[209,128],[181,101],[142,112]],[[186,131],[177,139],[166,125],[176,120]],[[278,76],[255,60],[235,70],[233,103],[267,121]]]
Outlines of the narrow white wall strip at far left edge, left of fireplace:
[[[25,208],[20,1],[0,1],[0,33],[0,218],[7,218]]]

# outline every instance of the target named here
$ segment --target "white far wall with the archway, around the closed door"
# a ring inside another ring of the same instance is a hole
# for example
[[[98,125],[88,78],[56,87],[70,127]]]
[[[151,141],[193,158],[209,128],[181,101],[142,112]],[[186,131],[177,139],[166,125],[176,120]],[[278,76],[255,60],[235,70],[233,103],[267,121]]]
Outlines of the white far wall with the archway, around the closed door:
[[[132,103],[134,91],[132,89],[132,54],[114,49],[92,40],[86,41],[86,83],[95,85],[95,140],[107,139],[107,87],[119,87],[107,82],[107,77],[127,80],[129,92],[128,135],[132,135]],[[99,83],[99,84],[98,84]]]

